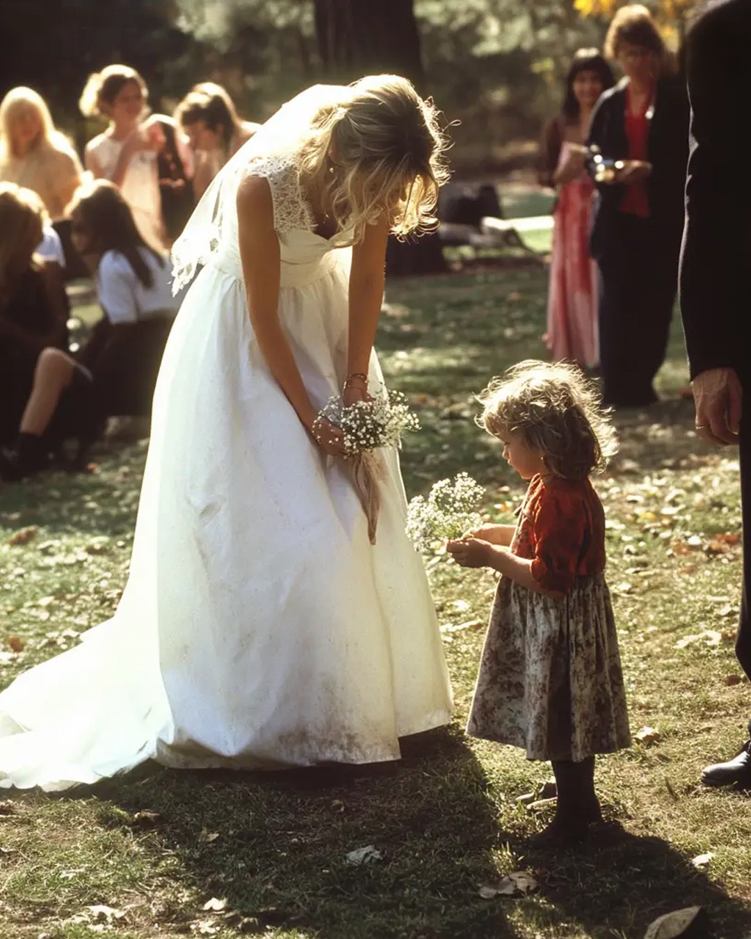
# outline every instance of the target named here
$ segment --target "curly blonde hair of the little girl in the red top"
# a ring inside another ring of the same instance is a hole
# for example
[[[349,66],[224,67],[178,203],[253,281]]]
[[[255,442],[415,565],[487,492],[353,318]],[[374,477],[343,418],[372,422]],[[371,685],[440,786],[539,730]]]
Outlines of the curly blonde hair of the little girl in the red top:
[[[566,362],[527,360],[494,378],[478,395],[478,423],[494,437],[518,434],[542,452],[545,467],[563,479],[602,472],[618,450],[599,395],[581,370]]]

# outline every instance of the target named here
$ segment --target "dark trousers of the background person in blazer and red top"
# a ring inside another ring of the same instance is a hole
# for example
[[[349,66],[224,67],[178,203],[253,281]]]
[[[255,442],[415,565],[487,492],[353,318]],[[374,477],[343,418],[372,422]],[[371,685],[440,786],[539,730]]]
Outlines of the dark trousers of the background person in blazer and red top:
[[[657,399],[652,380],[665,361],[678,287],[679,245],[651,219],[618,212],[600,253],[600,374],[606,405]]]

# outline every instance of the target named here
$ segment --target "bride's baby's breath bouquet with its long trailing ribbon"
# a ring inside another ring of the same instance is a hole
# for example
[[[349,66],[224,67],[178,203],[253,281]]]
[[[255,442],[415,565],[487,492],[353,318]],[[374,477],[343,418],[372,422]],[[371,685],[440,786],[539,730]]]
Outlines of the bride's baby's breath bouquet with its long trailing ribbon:
[[[381,447],[400,448],[402,435],[410,430],[420,430],[420,422],[409,409],[404,394],[387,392],[385,388],[379,388],[366,400],[351,405],[345,405],[340,396],[330,398],[315,419],[314,437],[317,438],[318,428],[324,420],[344,434],[346,466],[368,519],[368,537],[375,545],[381,504],[376,477],[382,470],[379,470],[374,451]]]

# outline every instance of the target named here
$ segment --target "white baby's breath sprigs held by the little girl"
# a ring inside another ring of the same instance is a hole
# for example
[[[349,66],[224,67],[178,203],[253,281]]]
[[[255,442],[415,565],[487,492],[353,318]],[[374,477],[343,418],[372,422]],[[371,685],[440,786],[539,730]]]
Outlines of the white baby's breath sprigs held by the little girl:
[[[406,509],[406,533],[418,551],[426,551],[437,541],[460,538],[483,524],[480,505],[484,489],[466,472],[454,479],[442,479],[427,499],[416,496]]]

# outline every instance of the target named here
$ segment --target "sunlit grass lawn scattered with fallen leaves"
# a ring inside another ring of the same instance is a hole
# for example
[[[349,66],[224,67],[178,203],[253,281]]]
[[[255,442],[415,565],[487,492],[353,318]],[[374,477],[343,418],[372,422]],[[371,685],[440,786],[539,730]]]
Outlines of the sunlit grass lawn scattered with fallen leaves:
[[[544,355],[544,292],[542,270],[391,285],[378,345],[423,424],[403,454],[410,495],[466,469],[487,486],[488,516],[512,518],[523,484],[472,423],[472,393]],[[751,713],[732,651],[737,454],[697,440],[677,394],[685,383],[676,324],[666,400],[618,416],[621,454],[596,483],[633,730],[654,730],[598,764],[625,840],[529,848],[548,816],[517,797],[549,768],[463,733],[495,580],[437,555],[426,563],[455,691],[448,730],[374,767],[148,765],[72,796],[0,795],[0,937],[606,939],[641,937],[656,916],[693,904],[717,939],[750,935],[751,798],[697,785],[703,764],[734,755]],[[88,475],[0,489],[0,685],[115,609],[145,454],[142,444],[101,449]],[[347,863],[368,845],[377,858]],[[539,889],[483,899],[482,886],[515,870]]]

